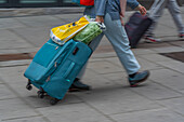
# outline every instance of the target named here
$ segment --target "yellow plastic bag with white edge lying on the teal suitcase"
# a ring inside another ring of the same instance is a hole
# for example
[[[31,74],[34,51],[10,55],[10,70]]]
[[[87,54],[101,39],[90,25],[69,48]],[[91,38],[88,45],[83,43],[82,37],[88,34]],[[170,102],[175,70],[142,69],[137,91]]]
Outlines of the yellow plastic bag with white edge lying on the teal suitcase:
[[[90,22],[90,18],[83,16],[78,22],[52,28],[50,37],[55,43],[63,45],[69,39],[74,38],[77,32],[82,30]]]

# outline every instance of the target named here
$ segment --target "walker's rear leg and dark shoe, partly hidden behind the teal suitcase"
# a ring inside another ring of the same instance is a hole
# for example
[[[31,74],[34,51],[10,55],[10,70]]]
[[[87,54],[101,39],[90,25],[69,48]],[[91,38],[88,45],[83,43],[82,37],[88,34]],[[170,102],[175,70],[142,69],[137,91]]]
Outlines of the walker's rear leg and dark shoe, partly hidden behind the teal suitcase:
[[[102,38],[103,38],[104,33],[101,33],[98,37],[96,37],[90,44],[89,46],[92,49],[92,51],[94,52],[95,49],[97,48],[97,45],[100,44]],[[88,91],[91,89],[90,85],[82,83],[80,80],[82,79],[84,72],[86,72],[86,68],[87,68],[88,62],[86,63],[86,65],[82,67],[82,69],[80,70],[79,74],[77,76],[77,78],[75,79],[74,83],[71,84],[71,86],[69,87],[70,92],[74,91]]]

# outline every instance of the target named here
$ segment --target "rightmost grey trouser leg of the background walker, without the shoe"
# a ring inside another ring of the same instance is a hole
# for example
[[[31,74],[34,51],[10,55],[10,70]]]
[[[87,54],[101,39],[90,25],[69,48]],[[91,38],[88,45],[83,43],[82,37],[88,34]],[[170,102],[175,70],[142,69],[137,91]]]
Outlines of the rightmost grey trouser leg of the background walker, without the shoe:
[[[171,13],[173,21],[178,27],[179,35],[184,35],[184,25],[182,22],[181,10],[175,0],[169,0],[168,10]]]

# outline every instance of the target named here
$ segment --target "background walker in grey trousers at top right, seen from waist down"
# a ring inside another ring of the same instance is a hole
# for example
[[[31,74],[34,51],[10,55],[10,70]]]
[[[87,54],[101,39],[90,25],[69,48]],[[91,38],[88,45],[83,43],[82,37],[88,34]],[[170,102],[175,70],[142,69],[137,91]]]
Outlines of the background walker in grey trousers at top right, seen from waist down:
[[[182,22],[181,10],[176,0],[155,0],[149,12],[149,17],[153,18],[153,25],[149,27],[145,35],[145,39],[150,42],[160,41],[154,37],[154,30],[158,23],[158,19],[161,17],[165,8],[168,6],[170,14],[178,27],[179,38],[184,39],[184,25]]]

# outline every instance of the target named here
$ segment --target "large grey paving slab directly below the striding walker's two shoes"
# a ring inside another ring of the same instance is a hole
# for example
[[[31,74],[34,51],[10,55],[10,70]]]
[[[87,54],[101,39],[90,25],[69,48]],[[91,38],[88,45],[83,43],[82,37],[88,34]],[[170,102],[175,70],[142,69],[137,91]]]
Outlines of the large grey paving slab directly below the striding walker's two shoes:
[[[91,94],[81,93],[78,96],[104,114],[160,108],[158,104],[130,91],[130,87],[120,85],[94,89]]]

